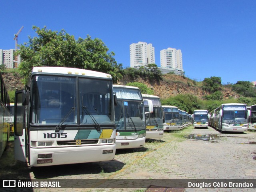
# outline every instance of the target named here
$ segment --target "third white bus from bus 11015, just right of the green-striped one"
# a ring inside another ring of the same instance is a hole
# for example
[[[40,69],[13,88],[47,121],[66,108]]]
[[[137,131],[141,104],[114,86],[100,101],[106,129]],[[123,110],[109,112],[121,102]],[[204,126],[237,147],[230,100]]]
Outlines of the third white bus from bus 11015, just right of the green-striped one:
[[[160,98],[148,94],[142,94],[142,97],[144,100],[151,100],[153,105],[153,111],[146,113],[146,139],[161,139],[164,134],[164,122]]]

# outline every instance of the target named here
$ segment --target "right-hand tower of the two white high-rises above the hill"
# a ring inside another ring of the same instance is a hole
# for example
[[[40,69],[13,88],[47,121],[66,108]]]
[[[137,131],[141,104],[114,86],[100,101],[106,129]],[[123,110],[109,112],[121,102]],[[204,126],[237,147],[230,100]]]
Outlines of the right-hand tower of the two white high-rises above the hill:
[[[182,53],[181,50],[175,48],[167,48],[160,51],[160,62],[162,68],[182,68]]]

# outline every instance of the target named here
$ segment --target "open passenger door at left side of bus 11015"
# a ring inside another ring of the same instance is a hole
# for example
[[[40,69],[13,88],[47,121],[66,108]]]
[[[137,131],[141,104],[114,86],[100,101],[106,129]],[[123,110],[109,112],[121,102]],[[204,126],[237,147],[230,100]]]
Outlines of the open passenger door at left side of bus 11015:
[[[26,162],[25,106],[23,104],[25,90],[15,92],[14,104],[14,157]]]

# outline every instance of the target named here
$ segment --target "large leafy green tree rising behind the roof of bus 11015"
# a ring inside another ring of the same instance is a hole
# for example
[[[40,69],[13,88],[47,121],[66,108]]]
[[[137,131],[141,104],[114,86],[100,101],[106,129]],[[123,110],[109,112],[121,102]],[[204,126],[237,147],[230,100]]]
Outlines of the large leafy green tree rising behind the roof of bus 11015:
[[[30,72],[34,66],[60,66],[105,72],[112,76],[116,83],[122,78],[122,64],[117,64],[114,52],[108,52],[102,40],[78,38],[69,35],[65,30],[52,31],[36,26],[32,27],[37,36],[29,36],[29,42],[20,45],[16,52],[22,58],[19,65],[23,83],[28,82]]]

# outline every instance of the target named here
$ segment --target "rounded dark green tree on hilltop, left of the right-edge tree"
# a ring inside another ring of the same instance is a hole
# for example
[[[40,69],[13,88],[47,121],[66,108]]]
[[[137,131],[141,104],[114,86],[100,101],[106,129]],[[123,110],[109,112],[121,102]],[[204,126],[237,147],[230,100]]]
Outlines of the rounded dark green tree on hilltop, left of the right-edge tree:
[[[214,93],[220,90],[221,85],[221,78],[214,76],[210,78],[204,78],[202,88],[206,91],[209,91],[210,93]]]

